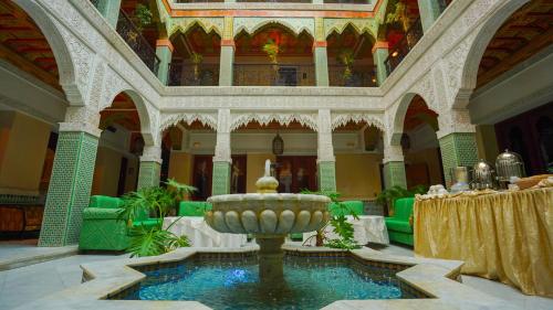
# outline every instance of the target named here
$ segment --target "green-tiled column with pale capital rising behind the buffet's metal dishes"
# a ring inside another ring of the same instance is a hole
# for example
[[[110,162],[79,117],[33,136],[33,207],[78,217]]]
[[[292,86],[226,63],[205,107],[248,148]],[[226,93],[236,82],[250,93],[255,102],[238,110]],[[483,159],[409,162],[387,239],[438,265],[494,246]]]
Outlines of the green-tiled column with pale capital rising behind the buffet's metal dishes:
[[[476,127],[470,124],[467,109],[440,113],[437,136],[440,145],[441,162],[446,185],[452,185],[451,169],[460,165],[472,167],[478,161]]]

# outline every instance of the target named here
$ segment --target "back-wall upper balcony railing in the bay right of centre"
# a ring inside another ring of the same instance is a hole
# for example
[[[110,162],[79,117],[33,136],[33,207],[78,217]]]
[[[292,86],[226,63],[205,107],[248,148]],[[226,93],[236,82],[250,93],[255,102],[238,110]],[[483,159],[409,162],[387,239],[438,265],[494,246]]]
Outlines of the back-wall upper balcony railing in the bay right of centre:
[[[351,75],[345,74],[344,65],[328,66],[328,82],[331,86],[344,87],[377,87],[374,66],[355,67]]]

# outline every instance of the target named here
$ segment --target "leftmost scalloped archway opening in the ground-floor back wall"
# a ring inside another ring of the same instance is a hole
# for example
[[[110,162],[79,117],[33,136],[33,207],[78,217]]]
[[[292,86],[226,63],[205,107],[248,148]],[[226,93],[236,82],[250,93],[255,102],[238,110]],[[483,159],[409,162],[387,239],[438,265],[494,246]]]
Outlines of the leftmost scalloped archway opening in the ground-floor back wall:
[[[163,133],[161,181],[177,182],[197,189],[190,196],[206,201],[211,196],[213,154],[217,132],[200,120],[179,121]]]

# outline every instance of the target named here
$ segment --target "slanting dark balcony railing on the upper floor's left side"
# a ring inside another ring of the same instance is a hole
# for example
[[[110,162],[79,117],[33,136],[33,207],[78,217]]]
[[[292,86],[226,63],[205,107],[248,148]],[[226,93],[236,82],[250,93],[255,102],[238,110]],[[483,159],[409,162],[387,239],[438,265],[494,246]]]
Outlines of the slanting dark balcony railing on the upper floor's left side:
[[[117,20],[117,33],[125,40],[125,42],[135,51],[135,53],[140,57],[140,60],[148,66],[148,68],[157,75],[157,70],[159,67],[159,58],[156,55],[156,51],[142,32],[136,28],[133,21],[127,17],[127,14],[119,10],[119,18]]]

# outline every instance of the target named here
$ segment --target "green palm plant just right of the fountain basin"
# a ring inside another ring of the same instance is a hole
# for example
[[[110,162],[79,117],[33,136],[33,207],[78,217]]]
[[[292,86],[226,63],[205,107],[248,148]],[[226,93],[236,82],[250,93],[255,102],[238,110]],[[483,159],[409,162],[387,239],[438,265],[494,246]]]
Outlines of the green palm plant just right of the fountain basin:
[[[338,201],[341,196],[340,193],[330,191],[311,192],[309,190],[304,190],[302,191],[302,194],[317,194],[327,196],[336,206],[333,210],[333,215],[331,216],[328,223],[316,231],[315,235],[305,239],[305,242],[303,242],[303,245],[307,244],[312,238],[316,238],[316,246],[324,245],[332,248],[343,249],[355,249],[361,247],[354,239],[353,224],[347,222],[347,217],[345,214],[352,214],[355,220],[358,220],[359,217],[354,210],[351,210],[345,203]],[[338,238],[331,239],[326,236],[325,232],[328,225],[332,225],[333,232],[338,235]]]

